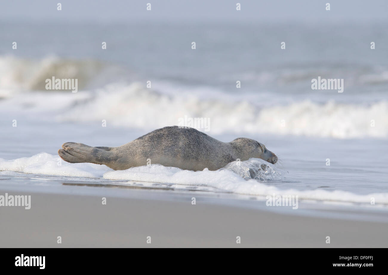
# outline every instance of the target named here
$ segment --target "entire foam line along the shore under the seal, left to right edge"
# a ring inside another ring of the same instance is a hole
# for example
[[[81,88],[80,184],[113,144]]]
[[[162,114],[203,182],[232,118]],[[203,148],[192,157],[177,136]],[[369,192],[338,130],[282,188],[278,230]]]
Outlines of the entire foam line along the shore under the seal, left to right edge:
[[[376,204],[388,204],[388,193],[357,195],[341,190],[281,190],[268,183],[271,183],[273,180],[279,182],[279,180],[284,179],[284,171],[260,159],[250,159],[249,161],[241,162],[241,164],[234,162],[217,171],[209,171],[208,169],[204,169],[203,171],[188,171],[176,167],[164,167],[157,164],[132,167],[122,171],[113,171],[105,165],[86,163],[69,164],[64,161],[61,162],[61,165],[58,165],[58,163],[58,156],[47,153],[40,153],[32,157],[17,158],[14,160],[4,160],[0,158],[0,171],[3,171],[0,174],[3,176],[12,176],[12,173],[9,171],[14,171],[51,176],[173,183],[199,187],[207,186],[217,188],[222,192],[263,197],[274,194],[287,196],[297,195],[299,199],[306,200],[356,202],[364,204],[370,204],[371,198],[373,197]],[[263,165],[266,166],[263,167]],[[234,172],[237,167],[239,167],[238,169],[240,170]],[[254,171],[249,171],[249,169],[253,169]],[[252,177],[263,179],[266,182],[251,179]]]

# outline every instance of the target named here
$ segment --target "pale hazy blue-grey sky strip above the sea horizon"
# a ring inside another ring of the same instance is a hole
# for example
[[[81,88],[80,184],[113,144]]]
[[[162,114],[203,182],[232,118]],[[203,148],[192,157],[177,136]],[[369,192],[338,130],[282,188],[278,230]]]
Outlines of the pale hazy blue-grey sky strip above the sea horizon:
[[[62,10],[57,10],[61,3]],[[151,3],[151,10],[146,9]],[[241,3],[241,10],[236,10]],[[326,10],[330,3],[330,10]],[[387,22],[388,0],[2,0],[0,22]]]

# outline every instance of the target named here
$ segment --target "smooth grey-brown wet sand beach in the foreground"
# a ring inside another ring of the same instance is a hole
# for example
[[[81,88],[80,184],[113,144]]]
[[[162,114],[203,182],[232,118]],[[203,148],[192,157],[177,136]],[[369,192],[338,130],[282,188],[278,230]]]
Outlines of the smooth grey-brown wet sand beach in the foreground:
[[[166,197],[163,191],[134,189],[125,193],[126,198],[109,197],[108,190],[106,205],[97,195],[31,193],[31,209],[1,208],[6,226],[0,229],[0,246],[388,246],[388,223],[281,214],[257,209],[262,204],[257,200],[240,200],[240,205],[228,206],[222,198],[210,200],[198,194],[196,205],[192,205],[192,193],[173,194],[178,198],[175,201],[156,199]],[[346,211],[343,214],[346,216]],[[58,236],[61,244],[57,244]],[[237,236],[241,244],[236,243]],[[326,236],[330,236],[330,244],[326,244]],[[151,244],[147,244],[147,237],[151,237]]]

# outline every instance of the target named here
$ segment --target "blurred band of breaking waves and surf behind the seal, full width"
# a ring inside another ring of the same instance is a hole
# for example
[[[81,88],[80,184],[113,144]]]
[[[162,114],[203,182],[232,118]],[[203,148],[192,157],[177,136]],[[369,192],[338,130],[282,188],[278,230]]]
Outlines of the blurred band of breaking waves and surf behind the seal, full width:
[[[0,57],[0,99],[10,101],[0,101],[0,108],[17,110],[19,105],[18,111],[22,113],[25,106],[29,106],[29,112],[35,106],[39,113],[50,111],[50,117],[59,121],[106,120],[110,125],[145,131],[177,125],[181,118],[190,117],[209,118],[208,129],[212,134],[388,137],[386,99],[369,103],[315,102],[297,97],[283,100],[283,95],[275,93],[228,93],[210,86],[184,87],[157,81],[153,82],[152,89],[147,89],[145,82],[131,82],[131,74],[121,79],[123,74],[126,71],[117,66],[93,60],[47,57],[31,61],[3,56]],[[45,79],[53,76],[78,78],[78,92],[47,92]],[[361,80],[380,81],[386,78],[386,73],[379,80],[375,78]]]

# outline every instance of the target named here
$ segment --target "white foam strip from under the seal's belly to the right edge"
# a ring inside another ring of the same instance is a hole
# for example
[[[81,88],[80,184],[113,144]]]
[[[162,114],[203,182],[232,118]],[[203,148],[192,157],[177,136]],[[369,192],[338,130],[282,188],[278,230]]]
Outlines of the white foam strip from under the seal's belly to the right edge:
[[[250,160],[252,162],[252,159]],[[264,161],[258,161],[257,164],[263,164]],[[267,162],[265,162],[268,166]],[[242,162],[242,167],[248,167],[247,162]],[[230,167],[229,167],[230,168]],[[280,169],[274,168],[276,178],[282,178],[284,174]],[[267,171],[261,171],[259,174],[265,174]],[[244,173],[243,173],[244,174]],[[243,175],[242,174],[242,175]],[[248,173],[249,174],[249,173]],[[245,173],[245,175],[248,176]],[[262,175],[260,177],[263,177]],[[376,204],[388,204],[388,193],[372,193],[368,195],[357,195],[351,192],[335,190],[326,191],[316,190],[281,190],[275,186],[257,181],[255,179],[244,180],[239,174],[231,169],[219,169],[217,171],[188,171],[173,167],[164,167],[162,165],[150,165],[141,167],[132,167],[122,171],[109,171],[104,174],[105,179],[120,179],[128,181],[149,181],[161,183],[175,183],[185,185],[210,186],[219,190],[228,191],[236,194],[255,195],[266,197],[267,195],[286,195],[298,196],[299,199],[320,200],[333,202],[353,202],[370,204],[371,198],[375,199]]]

